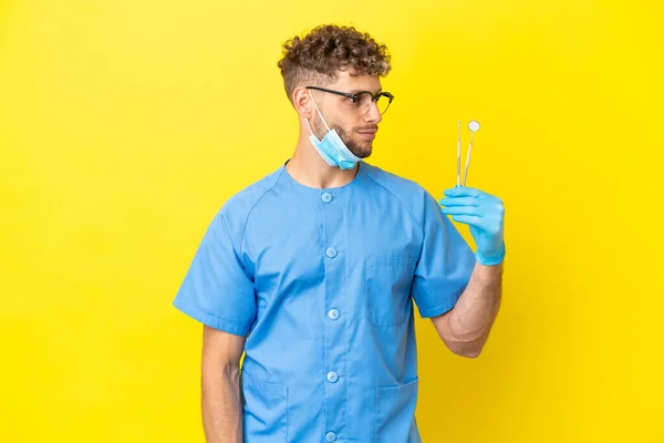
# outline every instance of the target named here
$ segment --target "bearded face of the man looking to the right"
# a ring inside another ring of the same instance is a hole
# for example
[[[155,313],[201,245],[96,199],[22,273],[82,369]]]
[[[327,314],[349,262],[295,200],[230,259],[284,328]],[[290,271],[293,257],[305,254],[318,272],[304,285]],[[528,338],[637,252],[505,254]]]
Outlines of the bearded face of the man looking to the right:
[[[324,87],[351,94],[360,91],[371,91],[375,94],[381,91],[381,82],[376,75],[351,76],[347,72],[340,71],[336,82],[326,84]],[[367,113],[362,114],[357,112],[355,104],[349,97],[323,91],[309,91],[313,94],[325,122],[331,130],[336,130],[349,151],[360,158],[369,157],[378,131],[378,123],[382,120],[375,104],[371,106]],[[385,100],[385,97],[381,100]],[[311,111],[313,111],[310,119],[313,133],[318,138],[322,138],[328,130],[313,103],[311,104]]]

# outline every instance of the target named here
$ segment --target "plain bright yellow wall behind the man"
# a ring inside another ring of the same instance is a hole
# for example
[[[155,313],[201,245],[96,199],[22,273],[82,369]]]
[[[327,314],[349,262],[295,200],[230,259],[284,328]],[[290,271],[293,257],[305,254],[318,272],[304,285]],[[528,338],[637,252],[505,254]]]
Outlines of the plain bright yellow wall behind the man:
[[[201,328],[170,303],[225,199],[291,154],[276,63],[328,22],[393,54],[370,163],[440,196],[476,119],[468,186],[506,205],[483,356],[418,319],[424,441],[664,441],[663,20],[657,1],[0,2],[0,441],[203,441]]]

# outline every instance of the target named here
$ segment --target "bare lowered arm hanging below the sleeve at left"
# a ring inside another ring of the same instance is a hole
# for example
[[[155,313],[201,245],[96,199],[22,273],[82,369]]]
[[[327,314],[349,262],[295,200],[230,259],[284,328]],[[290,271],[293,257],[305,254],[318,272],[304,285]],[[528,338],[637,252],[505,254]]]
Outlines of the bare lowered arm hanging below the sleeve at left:
[[[239,363],[245,337],[204,326],[203,425],[208,443],[242,443]]]

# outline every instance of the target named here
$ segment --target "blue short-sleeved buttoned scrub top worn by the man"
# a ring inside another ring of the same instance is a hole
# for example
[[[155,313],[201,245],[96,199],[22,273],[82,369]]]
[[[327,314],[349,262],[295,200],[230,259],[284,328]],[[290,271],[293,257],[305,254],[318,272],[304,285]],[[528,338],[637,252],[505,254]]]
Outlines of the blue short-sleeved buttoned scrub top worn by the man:
[[[419,442],[413,302],[452,309],[475,255],[412,181],[361,162],[317,189],[284,166],[227,200],[174,305],[248,336],[246,443]]]

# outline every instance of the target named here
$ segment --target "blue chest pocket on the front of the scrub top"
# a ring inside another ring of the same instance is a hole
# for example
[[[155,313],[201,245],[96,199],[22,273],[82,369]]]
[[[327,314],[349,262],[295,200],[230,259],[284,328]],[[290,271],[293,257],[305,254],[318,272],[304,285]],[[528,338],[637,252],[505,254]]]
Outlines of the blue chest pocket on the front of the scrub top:
[[[364,264],[366,319],[374,326],[397,326],[411,318],[415,258],[367,257]]]

